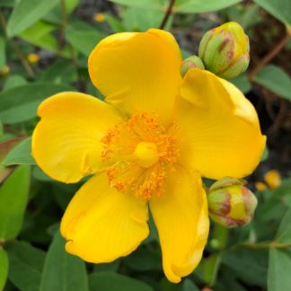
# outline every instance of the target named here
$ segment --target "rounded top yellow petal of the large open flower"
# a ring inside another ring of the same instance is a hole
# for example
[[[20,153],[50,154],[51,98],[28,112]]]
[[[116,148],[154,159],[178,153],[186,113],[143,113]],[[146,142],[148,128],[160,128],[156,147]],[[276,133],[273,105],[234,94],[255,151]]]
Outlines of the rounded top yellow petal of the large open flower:
[[[166,31],[110,35],[93,49],[88,68],[106,100],[125,113],[154,112],[172,119],[174,96],[181,83],[181,52]]]

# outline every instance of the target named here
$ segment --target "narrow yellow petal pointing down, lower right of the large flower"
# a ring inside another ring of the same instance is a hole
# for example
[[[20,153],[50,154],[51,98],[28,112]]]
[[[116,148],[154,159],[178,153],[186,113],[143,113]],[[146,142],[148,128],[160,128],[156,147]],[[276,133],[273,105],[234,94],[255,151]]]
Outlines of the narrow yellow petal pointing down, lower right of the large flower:
[[[198,173],[173,172],[163,196],[152,198],[150,208],[160,237],[163,271],[178,283],[197,267],[207,242],[207,198]]]

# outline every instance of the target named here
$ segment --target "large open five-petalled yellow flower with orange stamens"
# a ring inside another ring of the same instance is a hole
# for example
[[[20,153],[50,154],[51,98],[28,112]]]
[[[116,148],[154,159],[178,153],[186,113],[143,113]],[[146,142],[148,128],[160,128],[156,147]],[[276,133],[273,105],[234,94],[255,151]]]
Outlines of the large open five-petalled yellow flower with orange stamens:
[[[89,57],[105,101],[66,92],[40,104],[40,168],[66,183],[93,175],[62,219],[66,251],[94,263],[128,255],[149,233],[150,208],[166,277],[180,282],[198,265],[209,229],[201,176],[250,174],[265,137],[233,84],[198,68],[181,79],[181,63],[169,32],[117,33]]]

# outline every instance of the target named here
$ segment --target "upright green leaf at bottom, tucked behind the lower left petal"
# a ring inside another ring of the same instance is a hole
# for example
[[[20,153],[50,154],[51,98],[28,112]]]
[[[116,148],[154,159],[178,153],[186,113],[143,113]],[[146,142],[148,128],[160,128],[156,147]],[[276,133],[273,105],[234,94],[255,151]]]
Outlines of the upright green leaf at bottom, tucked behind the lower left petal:
[[[49,246],[40,283],[40,291],[52,290],[88,290],[84,261],[65,251],[65,240],[58,231]]]

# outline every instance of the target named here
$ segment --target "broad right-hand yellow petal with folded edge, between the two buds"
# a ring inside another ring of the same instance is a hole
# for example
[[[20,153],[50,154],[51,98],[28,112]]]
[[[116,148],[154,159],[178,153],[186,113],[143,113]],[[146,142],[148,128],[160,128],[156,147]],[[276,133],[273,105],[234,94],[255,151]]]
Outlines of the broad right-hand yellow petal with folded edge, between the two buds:
[[[251,102],[231,83],[190,69],[176,106],[181,163],[202,176],[242,178],[260,163],[266,137]]]

